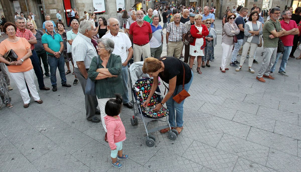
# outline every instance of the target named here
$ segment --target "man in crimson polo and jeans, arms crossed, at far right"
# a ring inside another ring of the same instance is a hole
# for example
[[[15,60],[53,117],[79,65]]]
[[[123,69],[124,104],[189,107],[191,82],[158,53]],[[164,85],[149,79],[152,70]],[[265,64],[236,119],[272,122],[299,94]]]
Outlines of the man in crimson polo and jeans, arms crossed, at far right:
[[[287,30],[287,32],[284,34],[284,36],[280,37],[284,45],[284,52],[282,55],[282,60],[281,60],[278,74],[283,76],[288,76],[287,73],[284,71],[287,64],[287,59],[290,55],[290,52],[292,51],[294,35],[299,34],[299,29],[297,27],[296,22],[290,20],[292,18],[292,13],[289,10],[282,11],[281,17],[282,17],[282,20],[280,21],[281,27],[284,30]],[[276,64],[278,62],[280,55],[281,53],[277,53],[276,55],[275,63],[271,68],[271,73],[270,73],[271,76],[273,76],[273,72],[275,72]]]

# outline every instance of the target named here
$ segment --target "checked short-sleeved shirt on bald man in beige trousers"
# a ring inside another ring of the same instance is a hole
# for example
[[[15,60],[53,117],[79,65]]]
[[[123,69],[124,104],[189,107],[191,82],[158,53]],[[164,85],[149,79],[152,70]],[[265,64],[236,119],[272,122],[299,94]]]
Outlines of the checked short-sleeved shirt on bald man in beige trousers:
[[[187,29],[183,23],[177,27],[175,22],[170,22],[166,27],[166,32],[169,32],[168,41],[178,42],[182,41],[183,34],[187,33]]]

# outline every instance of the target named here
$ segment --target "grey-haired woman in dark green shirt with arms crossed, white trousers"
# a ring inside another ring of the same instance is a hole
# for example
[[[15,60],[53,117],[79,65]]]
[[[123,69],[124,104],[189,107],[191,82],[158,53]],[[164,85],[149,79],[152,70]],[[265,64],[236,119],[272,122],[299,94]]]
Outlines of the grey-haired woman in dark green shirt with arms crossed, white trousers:
[[[121,57],[113,54],[114,41],[109,38],[101,38],[97,41],[98,56],[93,57],[88,77],[95,80],[95,92],[101,111],[101,122],[106,134],[104,140],[107,142],[107,128],[104,123],[106,113],[104,107],[115,94],[123,94],[123,82],[121,77]]]

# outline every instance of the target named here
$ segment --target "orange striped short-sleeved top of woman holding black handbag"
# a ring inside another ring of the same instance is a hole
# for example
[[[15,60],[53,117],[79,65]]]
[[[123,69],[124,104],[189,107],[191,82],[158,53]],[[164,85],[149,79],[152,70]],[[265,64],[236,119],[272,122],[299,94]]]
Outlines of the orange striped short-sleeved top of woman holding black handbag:
[[[7,39],[3,40],[0,43],[0,54],[2,54],[3,56],[10,49],[14,50],[19,60],[25,56],[25,54],[27,53],[27,49],[30,49],[30,44],[25,38],[20,38],[20,40],[18,40],[15,43],[12,43]],[[7,67],[9,72],[16,73],[16,72],[27,72],[33,68],[33,65],[31,63],[31,60],[28,58],[24,60],[24,62],[20,66],[10,65]]]

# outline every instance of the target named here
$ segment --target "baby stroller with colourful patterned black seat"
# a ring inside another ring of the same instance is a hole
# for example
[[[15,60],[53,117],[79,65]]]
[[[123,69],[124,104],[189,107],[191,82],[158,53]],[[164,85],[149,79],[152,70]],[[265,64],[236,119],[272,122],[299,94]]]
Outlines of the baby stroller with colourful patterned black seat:
[[[151,97],[151,101],[147,105],[146,108],[142,106],[144,100],[147,99],[149,93],[151,91],[151,86],[153,84],[153,79],[149,78],[149,75],[143,74],[142,72],[143,62],[133,63],[129,69],[129,78],[130,78],[130,87],[132,92],[132,104],[134,104],[134,115],[131,118],[132,126],[138,125],[138,118],[143,122],[145,131],[146,131],[146,145],[152,147],[155,145],[155,137],[150,135],[150,133],[159,131],[161,129],[165,129],[169,127],[169,132],[167,132],[168,138],[171,140],[175,140],[177,138],[178,132],[175,129],[171,129],[169,121],[168,121],[168,110],[166,107],[162,107],[159,111],[153,111],[153,108],[161,102],[163,98],[160,92],[159,87],[155,91],[154,95]],[[138,79],[141,77],[147,77]],[[134,101],[135,98],[135,101]],[[166,120],[163,120],[166,119]],[[147,129],[148,124],[153,121],[158,120],[162,122],[166,122],[165,126],[159,126],[153,129]]]

